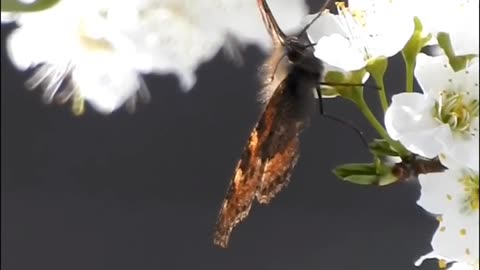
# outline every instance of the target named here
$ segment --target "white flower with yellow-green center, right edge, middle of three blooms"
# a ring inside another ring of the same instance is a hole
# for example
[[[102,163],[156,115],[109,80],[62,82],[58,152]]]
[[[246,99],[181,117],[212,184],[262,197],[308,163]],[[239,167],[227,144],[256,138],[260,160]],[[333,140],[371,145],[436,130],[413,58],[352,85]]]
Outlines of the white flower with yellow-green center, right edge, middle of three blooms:
[[[445,56],[420,54],[415,76],[423,94],[393,96],[385,114],[390,136],[421,156],[478,168],[478,62],[454,72]]]

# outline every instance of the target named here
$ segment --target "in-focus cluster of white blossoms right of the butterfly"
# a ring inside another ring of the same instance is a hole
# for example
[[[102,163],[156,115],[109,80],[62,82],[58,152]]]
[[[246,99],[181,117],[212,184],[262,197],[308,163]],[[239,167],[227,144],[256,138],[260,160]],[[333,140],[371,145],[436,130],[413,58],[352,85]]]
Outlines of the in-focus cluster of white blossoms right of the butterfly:
[[[386,131],[410,153],[438,158],[446,168],[418,177],[418,204],[437,217],[439,227],[432,252],[416,264],[437,258],[442,267],[453,263],[449,269],[478,269],[479,2],[349,4],[338,5],[338,15],[324,14],[310,29],[318,41],[316,56],[344,72],[363,70],[384,90],[382,62],[402,50],[407,76],[410,67],[422,92],[412,91],[412,80],[390,105],[385,98]],[[420,53],[431,44],[443,50],[436,56]]]

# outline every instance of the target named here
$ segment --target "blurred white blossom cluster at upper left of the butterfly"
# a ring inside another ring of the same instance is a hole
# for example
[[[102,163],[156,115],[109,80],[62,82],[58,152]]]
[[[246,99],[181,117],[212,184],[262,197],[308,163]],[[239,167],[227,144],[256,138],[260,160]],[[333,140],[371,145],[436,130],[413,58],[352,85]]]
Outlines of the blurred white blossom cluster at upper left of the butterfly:
[[[303,0],[271,6],[287,31],[307,14]],[[255,1],[62,0],[43,11],[2,12],[9,22],[18,25],[7,40],[14,65],[42,65],[28,87],[41,86],[46,102],[85,100],[107,114],[148,99],[142,74],[173,73],[189,91],[196,69],[222,48],[241,61],[242,47],[271,46]]]

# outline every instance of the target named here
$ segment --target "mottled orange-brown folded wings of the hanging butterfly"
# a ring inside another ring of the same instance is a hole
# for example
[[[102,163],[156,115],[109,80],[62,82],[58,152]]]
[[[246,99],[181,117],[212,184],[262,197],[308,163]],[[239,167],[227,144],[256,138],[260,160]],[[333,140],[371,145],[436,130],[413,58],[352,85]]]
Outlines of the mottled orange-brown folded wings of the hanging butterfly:
[[[252,131],[220,209],[214,243],[228,245],[233,228],[249,213],[255,197],[268,203],[288,183],[299,155],[299,133],[309,122],[305,99],[313,92],[295,74],[277,87]]]

